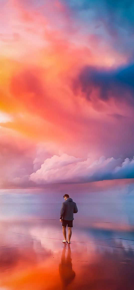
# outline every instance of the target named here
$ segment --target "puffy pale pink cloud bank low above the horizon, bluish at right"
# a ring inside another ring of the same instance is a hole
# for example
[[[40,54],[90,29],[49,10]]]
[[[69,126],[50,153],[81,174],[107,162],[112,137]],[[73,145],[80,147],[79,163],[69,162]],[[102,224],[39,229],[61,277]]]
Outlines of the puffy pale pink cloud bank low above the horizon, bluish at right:
[[[134,178],[134,158],[107,158],[90,162],[62,153],[44,161],[41,168],[30,175],[29,180],[36,184],[48,183],[87,183],[100,180]]]

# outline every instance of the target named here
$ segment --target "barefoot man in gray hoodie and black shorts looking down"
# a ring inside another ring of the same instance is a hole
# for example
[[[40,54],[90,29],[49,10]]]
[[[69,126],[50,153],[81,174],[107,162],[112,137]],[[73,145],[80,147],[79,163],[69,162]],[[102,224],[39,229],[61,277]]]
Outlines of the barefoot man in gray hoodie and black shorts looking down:
[[[68,194],[64,196],[65,202],[62,203],[61,210],[60,210],[60,222],[62,222],[62,232],[64,236],[63,243],[70,244],[70,238],[72,235],[72,227],[73,227],[73,220],[74,220],[74,213],[78,212],[76,203],[73,202],[72,198],[69,198]],[[66,238],[66,226],[68,226],[68,241]]]

